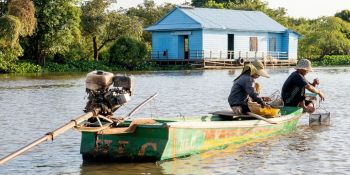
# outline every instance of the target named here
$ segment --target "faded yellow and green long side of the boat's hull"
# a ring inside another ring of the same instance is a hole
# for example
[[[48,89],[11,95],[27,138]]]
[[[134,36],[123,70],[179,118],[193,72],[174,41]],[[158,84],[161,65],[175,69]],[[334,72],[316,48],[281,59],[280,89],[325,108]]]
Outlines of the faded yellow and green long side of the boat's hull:
[[[267,138],[293,131],[298,119],[284,125],[264,126],[259,128],[215,128],[215,129],[186,129],[170,128],[169,145],[161,160],[195,154],[211,149],[221,149],[230,144],[243,144],[256,139]],[[179,138],[179,139],[178,139]],[[174,142],[175,140],[175,142]]]

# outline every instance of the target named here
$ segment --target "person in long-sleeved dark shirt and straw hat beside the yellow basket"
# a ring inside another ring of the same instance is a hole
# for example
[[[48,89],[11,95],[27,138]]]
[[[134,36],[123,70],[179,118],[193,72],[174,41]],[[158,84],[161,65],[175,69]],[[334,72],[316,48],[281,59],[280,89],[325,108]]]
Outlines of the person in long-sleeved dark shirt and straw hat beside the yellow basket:
[[[264,100],[259,97],[258,92],[254,88],[255,79],[260,76],[269,78],[268,73],[264,69],[264,65],[260,61],[256,60],[244,65],[241,75],[234,80],[231,93],[228,97],[228,103],[234,115],[250,112],[248,108],[249,97],[262,107],[268,106]]]

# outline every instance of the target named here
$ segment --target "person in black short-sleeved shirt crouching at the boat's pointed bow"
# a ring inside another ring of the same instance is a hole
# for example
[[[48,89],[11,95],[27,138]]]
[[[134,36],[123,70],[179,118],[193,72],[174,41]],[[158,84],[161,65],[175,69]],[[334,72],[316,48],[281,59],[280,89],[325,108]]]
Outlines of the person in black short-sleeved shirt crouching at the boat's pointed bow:
[[[320,100],[324,100],[324,94],[315,88],[320,82],[316,78],[313,83],[306,80],[305,76],[312,71],[311,62],[307,59],[302,59],[295,67],[296,71],[293,72],[282,87],[282,99],[286,106],[299,106],[304,109],[304,112],[313,113],[315,111],[315,105],[312,101],[308,101],[305,98],[305,89],[318,94]]]

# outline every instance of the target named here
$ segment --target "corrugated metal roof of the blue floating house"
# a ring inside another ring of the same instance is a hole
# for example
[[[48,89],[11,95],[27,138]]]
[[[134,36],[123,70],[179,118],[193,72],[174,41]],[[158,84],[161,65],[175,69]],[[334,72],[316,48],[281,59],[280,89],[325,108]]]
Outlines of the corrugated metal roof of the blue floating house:
[[[264,32],[285,32],[287,30],[287,28],[285,28],[266,14],[259,11],[181,7],[176,7],[176,9],[174,10],[182,11],[188,17],[198,22],[200,25],[159,25],[158,22],[155,25],[147,28],[146,30],[186,30],[194,28]],[[167,16],[171,15],[173,11],[171,11]],[[164,18],[166,18],[167,16],[165,16]]]

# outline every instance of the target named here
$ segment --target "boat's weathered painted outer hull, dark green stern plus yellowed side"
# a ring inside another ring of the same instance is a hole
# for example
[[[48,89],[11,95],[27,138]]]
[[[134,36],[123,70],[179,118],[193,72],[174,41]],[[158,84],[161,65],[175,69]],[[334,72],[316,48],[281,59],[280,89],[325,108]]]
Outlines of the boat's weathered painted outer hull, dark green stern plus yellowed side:
[[[277,125],[263,121],[174,122],[141,125],[134,133],[103,135],[82,133],[81,154],[92,161],[158,161],[183,157],[230,144],[243,144],[256,139],[289,133],[296,128],[301,110],[289,114]],[[184,123],[184,124],[183,124]],[[187,126],[185,124],[188,124]],[[195,126],[195,123],[201,123]],[[254,123],[254,124],[251,124]],[[203,126],[204,125],[204,126]],[[217,126],[215,126],[217,125]],[[219,127],[221,126],[221,127]]]

